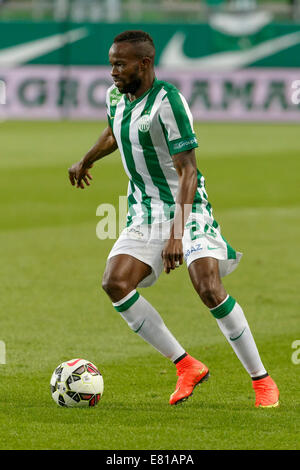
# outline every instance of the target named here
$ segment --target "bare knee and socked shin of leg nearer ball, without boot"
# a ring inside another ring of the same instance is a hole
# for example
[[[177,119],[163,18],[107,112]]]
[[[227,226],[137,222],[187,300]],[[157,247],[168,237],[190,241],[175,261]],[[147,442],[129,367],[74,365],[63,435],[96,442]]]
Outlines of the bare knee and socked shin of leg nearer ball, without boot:
[[[129,327],[173,362],[185,350],[166,327],[155,308],[137,291],[140,282],[151,274],[151,267],[139,259],[119,254],[107,262],[102,287]]]

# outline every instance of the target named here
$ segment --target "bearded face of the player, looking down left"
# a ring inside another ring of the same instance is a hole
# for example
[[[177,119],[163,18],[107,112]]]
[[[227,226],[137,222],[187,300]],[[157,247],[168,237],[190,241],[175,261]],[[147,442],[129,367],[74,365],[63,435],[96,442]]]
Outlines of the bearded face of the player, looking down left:
[[[128,42],[113,44],[109,50],[111,76],[121,93],[134,94],[142,83],[141,59]]]

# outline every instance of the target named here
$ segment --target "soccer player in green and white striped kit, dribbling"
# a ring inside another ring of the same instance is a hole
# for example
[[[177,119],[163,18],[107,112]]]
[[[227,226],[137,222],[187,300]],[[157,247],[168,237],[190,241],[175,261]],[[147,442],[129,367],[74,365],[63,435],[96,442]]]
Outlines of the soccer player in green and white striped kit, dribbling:
[[[198,144],[188,104],[175,86],[156,78],[154,56],[153,40],[143,31],[125,31],[114,39],[108,126],[69,168],[71,184],[84,189],[93,163],[118,148],[129,178],[127,226],[108,256],[103,289],[129,327],[176,365],[169,403],[183,402],[208,378],[208,367],[186,352],[136,289],[153,285],[162,270],[169,274],[185,260],[196,292],[252,379],[255,406],[278,406],[278,388],[260,359],[243,309],[221,281],[242,255],[213,217],[196,166]]]

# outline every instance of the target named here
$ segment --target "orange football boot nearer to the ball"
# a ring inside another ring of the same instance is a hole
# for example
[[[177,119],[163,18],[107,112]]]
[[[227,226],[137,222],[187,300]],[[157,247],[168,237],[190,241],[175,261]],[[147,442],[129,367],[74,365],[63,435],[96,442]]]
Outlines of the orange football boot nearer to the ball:
[[[209,377],[209,370],[202,362],[189,354],[176,364],[178,380],[175,392],[170,396],[170,405],[177,405],[187,400],[194,388]]]

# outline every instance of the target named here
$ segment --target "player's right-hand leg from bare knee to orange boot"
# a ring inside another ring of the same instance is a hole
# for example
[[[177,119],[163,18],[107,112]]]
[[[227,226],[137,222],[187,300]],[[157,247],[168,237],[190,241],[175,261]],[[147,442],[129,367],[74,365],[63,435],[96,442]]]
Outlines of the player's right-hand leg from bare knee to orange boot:
[[[256,391],[256,405],[277,406],[277,387],[263,366],[241,306],[225,291],[219,274],[219,261],[210,257],[198,258],[190,264],[189,274],[199,297],[210,309],[222,333],[251,376]]]

